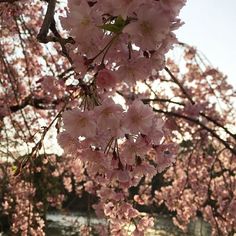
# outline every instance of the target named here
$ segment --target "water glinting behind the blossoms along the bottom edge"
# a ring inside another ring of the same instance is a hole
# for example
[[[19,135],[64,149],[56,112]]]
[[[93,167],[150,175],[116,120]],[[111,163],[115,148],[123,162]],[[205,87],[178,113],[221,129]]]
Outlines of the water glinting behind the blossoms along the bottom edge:
[[[94,217],[88,218],[84,215],[76,214],[48,214],[47,215],[48,228],[46,235],[48,236],[75,236],[79,235],[79,226],[81,224],[95,225],[106,224],[105,221]],[[202,219],[197,218],[191,222],[188,227],[188,233],[183,233],[176,227],[170,216],[159,215],[155,222],[153,229],[150,229],[146,236],[210,236],[210,225]]]

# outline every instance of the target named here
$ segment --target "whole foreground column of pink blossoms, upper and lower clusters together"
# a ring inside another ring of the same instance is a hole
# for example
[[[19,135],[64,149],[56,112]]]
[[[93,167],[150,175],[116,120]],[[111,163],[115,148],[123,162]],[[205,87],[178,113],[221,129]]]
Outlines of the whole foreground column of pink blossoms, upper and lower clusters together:
[[[164,55],[176,41],[173,31],[181,25],[176,17],[184,3],[68,1],[67,17],[61,19],[75,40],[68,50],[80,102],[63,112],[65,130],[58,142],[67,155],[84,163],[99,196],[101,189],[123,189],[117,196],[101,195],[95,206],[110,219],[114,234],[139,216],[125,203],[128,188],[143,176],[152,178],[162,172],[177,153],[177,145],[165,140],[163,119],[149,105],[135,97],[121,105],[115,95],[129,92],[138,81],[145,82],[164,67]],[[70,189],[68,181],[64,179]],[[146,221],[146,227],[141,227],[138,220],[137,232],[149,226]]]

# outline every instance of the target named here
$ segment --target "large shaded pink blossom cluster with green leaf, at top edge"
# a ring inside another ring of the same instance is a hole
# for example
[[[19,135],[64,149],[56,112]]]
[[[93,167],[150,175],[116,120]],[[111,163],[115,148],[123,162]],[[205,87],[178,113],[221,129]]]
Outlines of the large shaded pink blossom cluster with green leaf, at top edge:
[[[184,3],[68,1],[68,16],[61,22],[76,42],[70,55],[78,75],[91,68],[101,71],[97,86],[103,89],[119,82],[133,85],[162,69],[165,53],[176,42],[173,30],[181,25],[176,16]]]

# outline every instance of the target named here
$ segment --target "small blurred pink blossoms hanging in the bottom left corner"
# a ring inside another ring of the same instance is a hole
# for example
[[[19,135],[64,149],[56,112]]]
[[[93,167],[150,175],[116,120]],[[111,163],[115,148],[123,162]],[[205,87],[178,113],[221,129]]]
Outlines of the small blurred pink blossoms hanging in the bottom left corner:
[[[10,172],[10,170],[8,169]],[[9,173],[7,193],[2,202],[3,213],[11,218],[11,232],[20,235],[44,236],[45,222],[39,213],[42,202],[34,204],[34,186],[24,180],[17,180]]]

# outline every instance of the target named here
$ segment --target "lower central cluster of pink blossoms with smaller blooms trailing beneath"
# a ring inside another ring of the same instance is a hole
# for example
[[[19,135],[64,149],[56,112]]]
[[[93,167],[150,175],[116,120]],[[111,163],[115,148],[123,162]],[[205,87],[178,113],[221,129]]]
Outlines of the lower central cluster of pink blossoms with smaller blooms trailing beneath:
[[[114,234],[125,232],[130,221],[138,225],[134,235],[142,233],[151,226],[144,223],[150,219],[141,217],[125,202],[129,187],[137,185],[144,175],[152,178],[174,161],[176,145],[161,144],[163,120],[141,101],[134,101],[125,111],[111,98],[93,110],[74,109],[62,117],[65,131],[58,142],[67,155],[84,163],[93,180],[94,184],[85,184],[85,190],[100,198],[94,205],[97,216],[109,219]],[[64,183],[71,191],[71,180],[64,178]],[[115,193],[113,188],[119,191]]]

